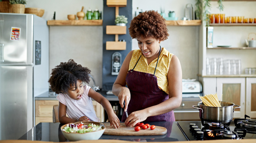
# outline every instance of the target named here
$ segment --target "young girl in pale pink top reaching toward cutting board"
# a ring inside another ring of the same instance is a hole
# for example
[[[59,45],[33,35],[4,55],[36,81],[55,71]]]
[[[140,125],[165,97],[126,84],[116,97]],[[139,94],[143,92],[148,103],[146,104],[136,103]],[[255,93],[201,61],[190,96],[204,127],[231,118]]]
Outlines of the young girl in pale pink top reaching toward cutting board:
[[[120,127],[120,121],[109,101],[91,87],[89,84],[90,70],[87,67],[77,65],[73,59],[68,62],[61,62],[60,65],[52,69],[49,79],[50,88],[58,94],[59,100],[59,121],[60,123],[71,123],[78,121],[96,121],[96,113],[93,108],[93,98],[100,103],[108,114],[111,125],[115,128]],[[68,117],[66,117],[66,113]]]

